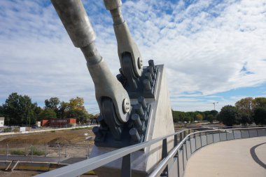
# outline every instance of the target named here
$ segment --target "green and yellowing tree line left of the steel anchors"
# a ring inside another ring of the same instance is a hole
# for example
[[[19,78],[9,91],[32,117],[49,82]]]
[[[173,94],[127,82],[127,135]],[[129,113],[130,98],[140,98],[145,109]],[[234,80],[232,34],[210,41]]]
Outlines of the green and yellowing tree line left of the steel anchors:
[[[29,96],[11,93],[6,102],[0,105],[0,117],[5,117],[6,125],[34,125],[37,121],[50,118],[76,118],[77,123],[85,123],[93,114],[84,107],[84,99],[71,98],[69,102],[52,97],[44,101],[40,107],[32,103]]]

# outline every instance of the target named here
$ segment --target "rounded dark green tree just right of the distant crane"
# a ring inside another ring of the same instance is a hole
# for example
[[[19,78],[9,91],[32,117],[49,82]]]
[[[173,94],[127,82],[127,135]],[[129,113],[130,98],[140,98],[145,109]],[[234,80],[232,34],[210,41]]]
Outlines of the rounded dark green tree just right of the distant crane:
[[[240,116],[237,107],[232,105],[226,105],[222,107],[220,112],[221,121],[226,126],[232,126],[233,124],[240,124]]]

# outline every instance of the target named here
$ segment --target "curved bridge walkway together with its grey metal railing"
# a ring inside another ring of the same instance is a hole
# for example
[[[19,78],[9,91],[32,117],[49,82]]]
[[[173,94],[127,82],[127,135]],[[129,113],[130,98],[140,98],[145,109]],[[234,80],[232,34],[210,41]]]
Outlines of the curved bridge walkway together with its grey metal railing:
[[[162,145],[162,160],[151,172],[141,176],[266,176],[266,127],[202,130],[203,128],[185,129],[123,147],[42,173],[38,177],[80,176],[115,161],[120,168],[120,176],[140,176],[132,168],[135,159],[131,156],[155,143]],[[170,147],[167,139],[174,141],[174,147]]]

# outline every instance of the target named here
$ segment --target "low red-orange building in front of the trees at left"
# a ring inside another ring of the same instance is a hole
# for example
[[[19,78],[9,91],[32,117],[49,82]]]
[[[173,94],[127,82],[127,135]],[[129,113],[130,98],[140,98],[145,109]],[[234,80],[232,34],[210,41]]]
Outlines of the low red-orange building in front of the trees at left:
[[[57,119],[52,118],[49,120],[42,120],[41,126],[50,126],[50,127],[71,127],[76,126],[76,119]]]

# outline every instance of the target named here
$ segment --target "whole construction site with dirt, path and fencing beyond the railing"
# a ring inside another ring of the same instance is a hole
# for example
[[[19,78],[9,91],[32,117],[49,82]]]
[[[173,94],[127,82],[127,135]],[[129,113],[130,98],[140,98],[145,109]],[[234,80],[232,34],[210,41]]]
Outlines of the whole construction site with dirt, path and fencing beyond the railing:
[[[176,131],[185,129],[175,124]],[[0,136],[0,175],[35,176],[90,157],[91,127]],[[92,176],[90,171],[83,176]]]

